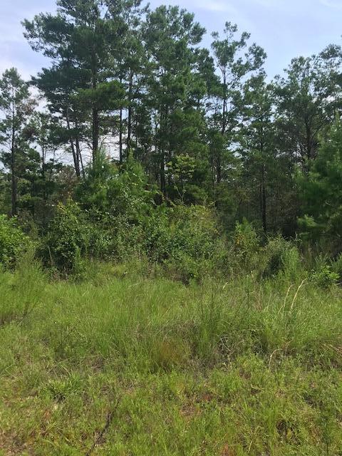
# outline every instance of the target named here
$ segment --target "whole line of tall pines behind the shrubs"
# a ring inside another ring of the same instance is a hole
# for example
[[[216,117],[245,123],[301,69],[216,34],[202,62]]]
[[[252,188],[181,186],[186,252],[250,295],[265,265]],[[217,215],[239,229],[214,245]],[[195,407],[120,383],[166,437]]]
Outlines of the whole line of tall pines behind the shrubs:
[[[340,46],[294,58],[270,81],[264,50],[229,22],[207,49],[177,6],[57,7],[23,22],[50,66],[0,81],[0,212],[48,236],[71,199],[92,223],[126,232],[151,208],[199,204],[222,232],[245,219],[264,239],[301,234],[341,251]]]

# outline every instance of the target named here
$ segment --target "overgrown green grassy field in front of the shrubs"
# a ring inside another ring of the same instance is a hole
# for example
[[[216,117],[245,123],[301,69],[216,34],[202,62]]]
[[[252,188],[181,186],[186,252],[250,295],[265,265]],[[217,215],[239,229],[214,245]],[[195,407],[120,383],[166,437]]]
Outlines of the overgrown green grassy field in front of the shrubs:
[[[0,275],[1,455],[342,455],[337,287],[89,276]]]

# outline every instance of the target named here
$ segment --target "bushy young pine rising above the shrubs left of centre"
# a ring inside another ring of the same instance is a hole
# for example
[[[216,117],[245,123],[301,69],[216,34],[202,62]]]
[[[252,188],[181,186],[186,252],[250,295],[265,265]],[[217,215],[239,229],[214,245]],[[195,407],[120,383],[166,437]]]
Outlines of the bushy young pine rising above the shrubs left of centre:
[[[126,261],[144,254],[142,224],[155,210],[155,191],[134,160],[121,170],[100,151],[76,189],[79,208],[90,229],[88,254]]]

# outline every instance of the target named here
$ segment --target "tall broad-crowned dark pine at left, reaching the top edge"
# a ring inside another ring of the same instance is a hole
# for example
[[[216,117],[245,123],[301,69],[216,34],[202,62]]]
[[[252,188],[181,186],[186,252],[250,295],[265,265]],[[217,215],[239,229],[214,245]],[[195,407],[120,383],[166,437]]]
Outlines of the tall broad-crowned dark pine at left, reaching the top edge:
[[[78,174],[78,150],[73,149],[73,136],[78,135],[83,119],[76,113],[90,114],[88,136],[95,160],[100,135],[107,133],[101,113],[122,104],[123,90],[110,70],[124,24],[120,19],[116,21],[110,17],[111,3],[110,0],[58,0],[56,16],[39,14],[33,21],[24,21],[25,36],[33,50],[42,51],[53,61],[52,68],[38,75],[36,84],[45,88],[47,97],[52,88],[53,96],[58,95],[63,102],[59,112],[71,133],[71,149]],[[71,118],[75,132],[71,132]]]

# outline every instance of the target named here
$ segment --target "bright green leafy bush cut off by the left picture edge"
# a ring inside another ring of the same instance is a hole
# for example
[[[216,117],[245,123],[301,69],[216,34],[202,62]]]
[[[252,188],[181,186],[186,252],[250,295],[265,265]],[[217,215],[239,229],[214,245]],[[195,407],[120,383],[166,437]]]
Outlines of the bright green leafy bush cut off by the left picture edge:
[[[0,264],[5,269],[14,268],[30,244],[30,239],[17,226],[16,218],[0,215]]]

